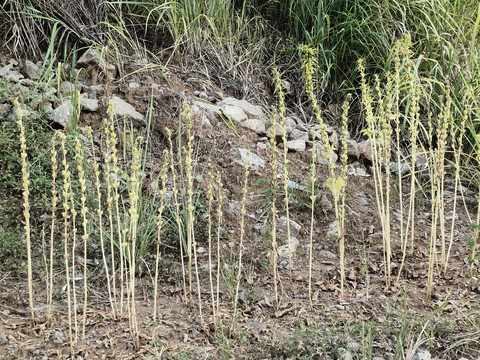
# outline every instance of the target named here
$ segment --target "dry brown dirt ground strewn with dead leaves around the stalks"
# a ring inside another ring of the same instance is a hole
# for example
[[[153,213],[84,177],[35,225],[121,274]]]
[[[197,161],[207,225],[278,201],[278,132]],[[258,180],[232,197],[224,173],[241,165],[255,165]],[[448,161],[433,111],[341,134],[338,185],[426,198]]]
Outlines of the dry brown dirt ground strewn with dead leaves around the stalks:
[[[173,69],[173,68],[172,68]],[[151,73],[135,78],[142,87],[129,90],[125,80],[111,85],[111,93],[121,94],[134,104],[138,111],[146,112],[150,101],[151,83],[161,86],[154,93],[152,116],[152,146],[147,170],[151,176],[144,184],[148,192],[149,179],[155,179],[161,167],[161,154],[165,148],[165,127],[178,129],[178,112],[183,99],[193,96],[195,84],[189,83],[188,74],[181,69],[163,75]],[[214,90],[214,89],[213,89]],[[224,94],[228,95],[228,89]],[[272,100],[273,102],[273,100]],[[96,113],[84,115],[82,125],[100,129],[105,106]],[[249,148],[263,159],[270,158],[268,150],[257,149],[258,136],[238,127],[240,136],[228,128],[220,118],[210,119],[213,127],[205,127],[193,117],[197,174],[206,178],[207,163],[221,172],[225,187],[224,208],[232,201],[240,201],[244,169],[232,162],[231,149]],[[100,131],[100,130],[98,130]],[[139,134],[144,129],[136,130]],[[291,178],[308,185],[308,169],[311,152],[289,153]],[[369,173],[368,164],[352,163]],[[327,169],[320,167],[318,190],[330,201],[325,186]],[[255,185],[258,179],[267,181]],[[2,271],[0,273],[0,358],[1,359],[327,359],[348,358],[341,355],[345,348],[353,358],[371,355],[384,359],[413,355],[419,348],[428,349],[433,358],[477,359],[480,356],[480,315],[478,279],[469,278],[468,248],[466,237],[472,236],[465,207],[459,201],[458,219],[454,229],[451,259],[446,274],[435,271],[434,292],[431,300],[426,297],[428,272],[430,214],[427,193],[418,194],[415,216],[415,241],[412,253],[408,253],[400,280],[389,291],[384,291],[384,261],[380,222],[376,211],[375,189],[372,177],[350,176],[346,206],[346,259],[347,280],[345,293],[340,296],[340,274],[337,239],[327,240],[328,226],[334,221],[332,210],[318,205],[315,209],[313,234],[313,307],[308,302],[308,242],[310,228],[309,198],[306,191],[292,191],[291,217],[302,225],[298,239],[300,245],[293,259],[293,269],[279,269],[279,303],[275,304],[274,279],[269,257],[270,239],[262,236],[260,229],[269,221],[270,199],[262,192],[268,188],[270,169],[253,170],[249,178],[247,216],[245,218],[244,279],[240,285],[239,318],[233,333],[229,333],[232,318],[232,289],[234,279],[224,268],[225,280],[221,286],[221,324],[215,332],[210,303],[206,253],[199,255],[202,283],[203,316],[205,326],[199,320],[196,303],[188,305],[182,293],[181,268],[178,251],[172,244],[162,248],[162,269],[158,296],[158,320],[152,325],[151,262],[141,264],[137,280],[137,319],[140,347],[135,348],[129,332],[128,313],[112,317],[101,265],[89,267],[89,306],[86,327],[86,351],[70,355],[65,295],[59,290],[64,286],[64,271],[59,265],[54,272],[54,319],[46,323],[45,279],[42,256],[37,248],[34,258],[34,300],[37,322],[32,326],[28,310],[27,281],[23,274]],[[197,184],[199,191],[206,182]],[[448,190],[447,186],[447,190]],[[404,189],[409,184],[404,183]],[[476,213],[475,192],[466,189],[466,207]],[[283,199],[283,198],[281,198]],[[279,200],[280,215],[284,214]],[[364,201],[366,200],[366,201]],[[451,202],[447,202],[447,207]],[[448,210],[448,209],[447,209]],[[399,243],[400,226],[394,213],[398,204],[391,206],[393,279],[399,270],[402,249]],[[222,252],[225,262],[234,261],[238,251],[240,234],[238,212],[225,211],[222,235]],[[447,211],[448,215],[448,211]],[[19,221],[22,221],[19,219]],[[451,219],[446,220],[450,229]],[[205,218],[199,222],[205,226]],[[284,235],[278,241],[283,245]],[[60,241],[60,240],[59,240]],[[197,235],[198,246],[208,248],[205,231]],[[439,254],[439,248],[437,248]],[[24,260],[18,260],[24,264]],[[58,264],[61,264],[58,256]],[[478,263],[476,264],[478,267]],[[226,265],[227,266],[227,265]],[[229,277],[230,276],[230,277]],[[79,281],[78,283],[81,283]],[[82,284],[77,292],[82,293]],[[195,293],[193,298],[195,299]],[[81,303],[81,300],[79,300]],[[80,306],[80,304],[79,304]],[[81,307],[78,309],[81,319]],[[155,336],[152,337],[152,333]],[[79,336],[81,337],[81,331]],[[363,353],[363,350],[366,353]],[[411,353],[408,353],[411,350]],[[397,354],[396,356],[394,354]],[[343,356],[343,357],[342,357]]]

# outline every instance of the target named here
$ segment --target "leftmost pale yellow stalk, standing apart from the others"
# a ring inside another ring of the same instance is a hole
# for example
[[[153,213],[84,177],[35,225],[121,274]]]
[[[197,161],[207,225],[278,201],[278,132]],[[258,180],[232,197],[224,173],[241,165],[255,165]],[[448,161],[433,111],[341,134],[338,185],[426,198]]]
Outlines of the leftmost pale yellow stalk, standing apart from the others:
[[[23,126],[23,109],[18,99],[13,100],[15,113],[17,115],[17,125],[20,130],[20,159],[22,163],[22,186],[23,186],[23,216],[25,218],[25,238],[27,242],[27,281],[28,281],[28,303],[30,307],[30,315],[32,316],[32,324],[35,324],[35,313],[33,312],[33,277],[32,277],[32,243],[30,240],[30,202],[29,202],[29,185],[30,173],[27,164],[27,141],[25,138],[25,128]]]

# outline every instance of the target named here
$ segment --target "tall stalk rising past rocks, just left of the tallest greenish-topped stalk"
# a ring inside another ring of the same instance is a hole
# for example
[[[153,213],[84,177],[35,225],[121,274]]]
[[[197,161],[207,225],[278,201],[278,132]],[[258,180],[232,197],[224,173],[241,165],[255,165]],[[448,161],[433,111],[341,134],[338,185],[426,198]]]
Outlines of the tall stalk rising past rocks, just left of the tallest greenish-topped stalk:
[[[283,141],[283,191],[285,196],[285,211],[287,217],[287,244],[288,244],[288,268],[292,272],[292,245],[291,245],[291,232],[290,232],[290,211],[288,206],[288,168],[289,162],[287,158],[288,147],[287,147],[287,128],[286,128],[286,118],[285,118],[285,94],[283,93],[283,84],[280,78],[280,73],[277,68],[273,69],[273,75],[275,79],[275,91],[278,94],[278,115],[280,116],[280,126],[282,127],[282,141]],[[275,118],[273,119],[275,122]],[[273,124],[274,133],[272,134],[272,139],[275,139],[275,123]],[[276,175],[276,174],[275,174]]]

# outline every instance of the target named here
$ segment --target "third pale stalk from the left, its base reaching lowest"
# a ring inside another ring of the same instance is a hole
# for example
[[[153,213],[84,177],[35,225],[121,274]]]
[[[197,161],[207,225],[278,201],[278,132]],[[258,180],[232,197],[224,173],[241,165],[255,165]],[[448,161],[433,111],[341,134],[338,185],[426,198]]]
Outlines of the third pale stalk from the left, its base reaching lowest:
[[[70,229],[70,182],[71,173],[67,163],[67,150],[65,148],[65,134],[59,133],[60,148],[62,151],[62,177],[63,177],[63,248],[64,248],[64,262],[65,262],[65,278],[67,283],[67,311],[68,311],[68,335],[70,340],[70,353],[73,354],[73,334],[72,334],[72,300],[70,289],[70,266],[68,263],[68,238]]]

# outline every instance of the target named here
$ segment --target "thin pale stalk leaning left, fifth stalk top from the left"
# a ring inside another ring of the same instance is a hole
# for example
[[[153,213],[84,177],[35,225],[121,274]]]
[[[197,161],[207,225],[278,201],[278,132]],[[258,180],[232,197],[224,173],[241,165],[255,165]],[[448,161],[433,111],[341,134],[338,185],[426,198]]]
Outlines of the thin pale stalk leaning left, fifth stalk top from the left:
[[[91,127],[87,127],[87,132],[88,132],[88,139],[90,141],[90,147],[92,149],[92,166],[93,166],[93,172],[95,173],[95,189],[97,193],[97,215],[98,215],[98,228],[99,228],[99,233],[100,233],[100,247],[102,249],[102,260],[103,260],[103,268],[105,269],[105,277],[107,278],[107,290],[108,290],[108,301],[110,303],[110,308],[112,310],[112,317],[115,318],[115,312],[116,312],[116,307],[114,306],[114,301],[112,298],[112,287],[110,284],[110,274],[108,271],[108,265],[107,265],[107,258],[105,256],[105,241],[103,239],[103,210],[102,210],[102,191],[101,191],[101,183],[100,183],[100,165],[98,162],[95,160],[95,144],[93,142],[93,132]],[[107,165],[108,167],[108,165]],[[111,194],[111,189],[108,190]],[[109,214],[111,216],[112,214],[112,201],[111,201],[111,195],[109,195],[110,202],[107,201],[108,206],[109,206]]]

